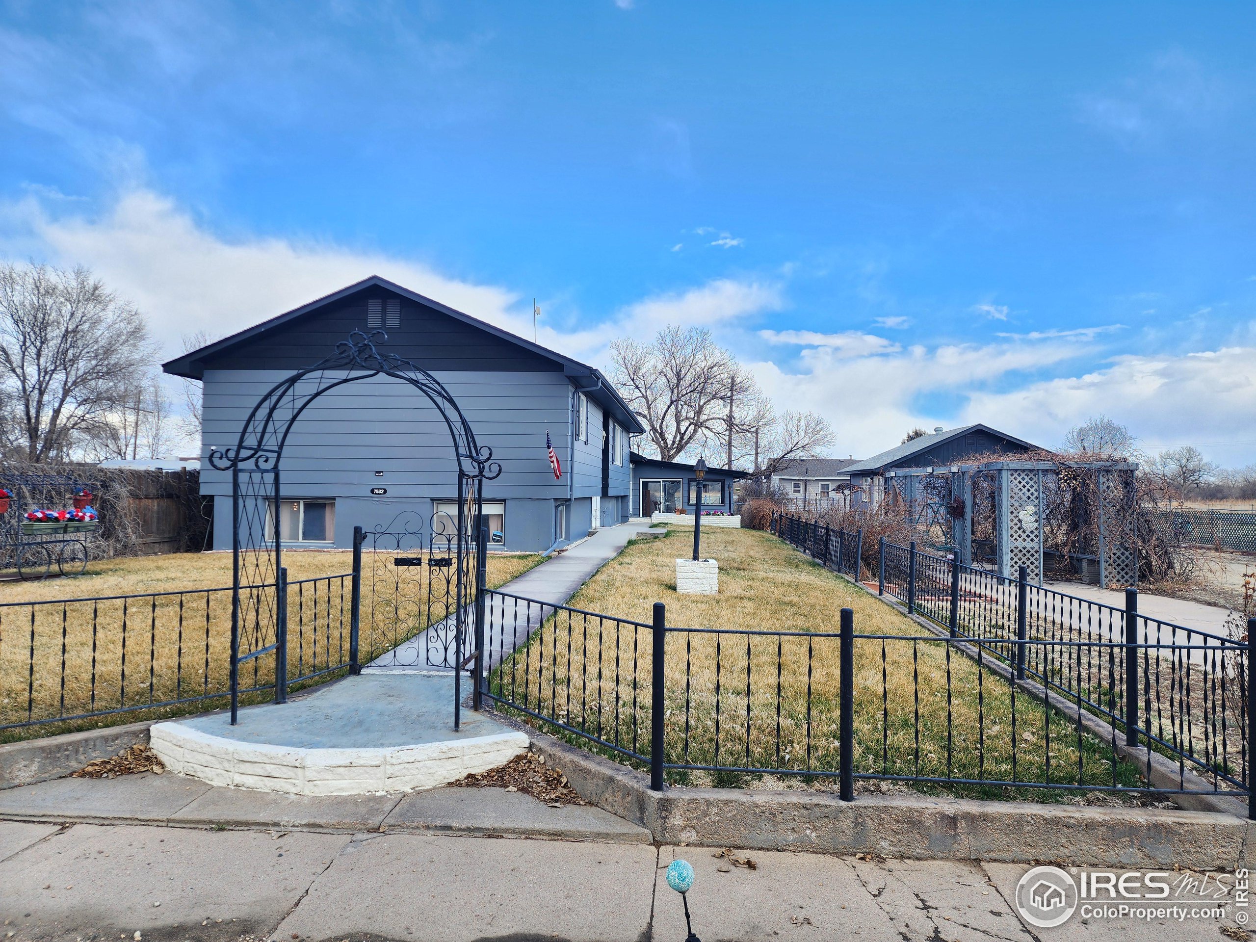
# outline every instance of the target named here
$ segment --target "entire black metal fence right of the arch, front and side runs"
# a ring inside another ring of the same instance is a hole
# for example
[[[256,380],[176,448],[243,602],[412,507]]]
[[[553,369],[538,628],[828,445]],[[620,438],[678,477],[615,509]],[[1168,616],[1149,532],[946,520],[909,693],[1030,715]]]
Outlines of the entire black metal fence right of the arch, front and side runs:
[[[779,533],[857,571],[859,534],[788,519]],[[882,592],[937,631],[857,633],[850,609],[828,629],[686,628],[662,604],[647,624],[487,592],[484,696],[648,766],[656,789],[703,771],[829,776],[845,799],[859,780],[1181,793],[1198,791],[1193,770],[1252,803],[1246,639],[1203,643],[914,546],[877,555]],[[1148,744],[1176,782],[1149,784],[1152,750],[1129,749]]]

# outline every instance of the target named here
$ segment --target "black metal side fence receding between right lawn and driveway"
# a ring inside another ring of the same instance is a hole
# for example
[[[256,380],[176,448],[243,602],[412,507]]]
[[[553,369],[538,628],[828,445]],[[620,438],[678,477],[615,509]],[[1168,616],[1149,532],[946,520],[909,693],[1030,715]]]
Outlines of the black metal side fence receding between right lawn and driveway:
[[[784,517],[774,531],[811,556],[809,521]],[[1247,637],[1228,638],[1138,612],[1128,589],[1117,608],[1026,579],[880,543],[878,592],[922,615],[966,653],[1037,682],[1119,728],[1130,745],[1149,744],[1213,789],[1248,789],[1251,664]],[[1248,636],[1253,631],[1248,623]],[[1076,711],[1079,728],[1085,717]]]

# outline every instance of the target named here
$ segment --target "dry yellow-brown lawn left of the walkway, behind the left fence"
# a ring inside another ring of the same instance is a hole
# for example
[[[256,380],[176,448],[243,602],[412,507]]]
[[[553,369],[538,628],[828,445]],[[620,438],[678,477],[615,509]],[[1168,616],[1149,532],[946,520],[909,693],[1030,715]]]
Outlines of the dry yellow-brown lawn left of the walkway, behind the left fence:
[[[539,561],[538,555],[491,554],[489,584],[501,585]],[[284,554],[284,565],[291,583],[289,676],[335,671],[348,659],[352,554],[289,551]],[[364,585],[371,570],[372,554],[367,553]],[[407,571],[417,574],[420,568]],[[0,583],[0,741],[137,717],[121,712],[51,726],[16,726],[31,720],[221,695],[227,690],[229,674],[231,592],[226,587],[230,585],[229,553],[111,559],[93,563],[88,574],[74,579]],[[383,618],[384,607],[364,605],[362,659],[382,653],[374,649],[381,639],[401,643],[426,628],[430,610],[431,607],[413,609],[398,629],[392,624],[373,624],[372,612],[377,619]],[[271,624],[268,613],[254,614],[246,619],[241,643],[245,652],[274,639],[273,629],[268,632]],[[435,614],[443,617],[445,612]],[[259,623],[257,637],[252,637],[250,624]],[[241,685],[259,688],[271,685],[273,662],[268,656],[246,663]],[[264,693],[259,691],[257,696]],[[208,706],[217,703],[201,703],[200,708]],[[156,712],[190,708],[197,705]],[[3,728],[6,726],[10,728]]]

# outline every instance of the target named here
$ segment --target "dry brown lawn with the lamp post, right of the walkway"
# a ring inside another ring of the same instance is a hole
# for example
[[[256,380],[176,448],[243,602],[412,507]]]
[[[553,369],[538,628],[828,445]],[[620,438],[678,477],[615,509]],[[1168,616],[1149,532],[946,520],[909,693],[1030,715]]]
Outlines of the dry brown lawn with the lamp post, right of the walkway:
[[[739,769],[835,774],[835,634],[849,607],[857,633],[891,636],[855,642],[857,772],[1110,785],[1115,769],[1118,782],[1137,784],[1107,745],[1024,695],[1014,711],[992,671],[766,533],[703,533],[703,555],[720,560],[720,594],[678,595],[674,560],[690,555],[690,534],[634,541],[569,603],[648,623],[662,602],[669,627],[723,632],[668,634],[668,762],[722,770],[720,784],[744,781]],[[834,637],[754,634],[790,631]],[[530,710],[647,755],[651,651],[648,628],[561,613],[494,683]]]

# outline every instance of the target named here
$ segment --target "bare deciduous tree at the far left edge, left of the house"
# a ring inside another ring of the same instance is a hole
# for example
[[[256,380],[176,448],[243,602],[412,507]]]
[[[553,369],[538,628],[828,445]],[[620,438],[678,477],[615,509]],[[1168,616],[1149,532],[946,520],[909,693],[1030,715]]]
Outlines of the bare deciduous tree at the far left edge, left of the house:
[[[63,458],[107,425],[152,355],[139,313],[87,269],[0,265],[0,384],[25,460]]]

